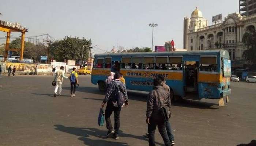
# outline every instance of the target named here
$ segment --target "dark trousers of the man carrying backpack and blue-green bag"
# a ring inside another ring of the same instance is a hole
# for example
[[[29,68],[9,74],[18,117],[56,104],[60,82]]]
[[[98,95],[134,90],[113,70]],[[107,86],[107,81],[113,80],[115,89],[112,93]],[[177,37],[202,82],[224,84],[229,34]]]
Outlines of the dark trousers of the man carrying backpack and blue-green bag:
[[[121,108],[114,107],[112,102],[108,103],[108,105],[106,107],[106,111],[105,111],[106,127],[109,131],[113,130],[111,119],[110,119],[110,116],[111,116],[113,111],[114,111],[114,121],[115,121],[114,130],[115,130],[115,134],[118,134],[118,130],[119,130],[119,127],[120,127],[120,111],[121,111]]]

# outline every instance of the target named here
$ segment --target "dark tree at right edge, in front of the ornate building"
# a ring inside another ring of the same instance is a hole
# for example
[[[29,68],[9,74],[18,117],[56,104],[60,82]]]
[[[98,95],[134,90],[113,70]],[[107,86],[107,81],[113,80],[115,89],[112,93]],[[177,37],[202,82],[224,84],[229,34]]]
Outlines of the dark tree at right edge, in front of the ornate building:
[[[256,32],[247,31],[243,35],[242,42],[246,46],[246,50],[243,53],[243,58],[248,61],[248,65],[252,62],[256,63]]]

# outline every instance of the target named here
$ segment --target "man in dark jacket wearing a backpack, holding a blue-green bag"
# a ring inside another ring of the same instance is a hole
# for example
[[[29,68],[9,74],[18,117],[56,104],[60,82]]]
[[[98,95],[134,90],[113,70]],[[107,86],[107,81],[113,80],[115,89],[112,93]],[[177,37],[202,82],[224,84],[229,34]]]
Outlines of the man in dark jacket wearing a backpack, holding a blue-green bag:
[[[120,79],[121,79],[121,74],[116,73],[114,75],[114,81],[112,81],[108,86],[108,89],[106,91],[105,99],[103,100],[102,105],[101,105],[102,108],[103,108],[104,105],[106,103],[108,103],[107,107],[106,107],[106,110],[105,110],[106,127],[108,129],[108,133],[106,135],[107,138],[110,137],[110,135],[114,134],[113,138],[114,139],[119,139],[118,138],[118,130],[119,130],[119,127],[120,127],[121,107],[120,108],[119,107],[114,107],[114,104],[112,102],[114,94],[116,94],[117,90],[118,90],[118,87],[116,87],[116,85],[118,85],[120,88],[122,88],[121,90],[123,90],[123,93],[125,95],[125,105],[128,106],[128,96],[127,96],[126,87],[125,87],[125,84],[123,84],[120,81]],[[113,111],[114,111],[114,121],[115,121],[114,131],[113,131],[112,123],[111,123],[111,120],[110,120],[110,116],[111,116]]]

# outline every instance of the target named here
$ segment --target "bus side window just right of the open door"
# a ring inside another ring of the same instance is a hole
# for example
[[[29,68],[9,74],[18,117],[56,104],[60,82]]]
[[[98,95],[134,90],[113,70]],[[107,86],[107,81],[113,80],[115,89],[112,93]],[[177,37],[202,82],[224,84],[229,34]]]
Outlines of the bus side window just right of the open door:
[[[200,71],[216,72],[217,71],[217,57],[201,57]]]

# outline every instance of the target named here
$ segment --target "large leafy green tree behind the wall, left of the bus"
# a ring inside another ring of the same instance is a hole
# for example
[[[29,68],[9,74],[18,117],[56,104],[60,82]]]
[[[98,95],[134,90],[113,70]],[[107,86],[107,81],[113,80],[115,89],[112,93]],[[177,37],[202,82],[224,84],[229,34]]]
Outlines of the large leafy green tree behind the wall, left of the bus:
[[[49,49],[51,56],[57,61],[63,62],[64,59],[68,59],[79,62],[82,59],[84,45],[91,46],[91,39],[66,36],[64,39],[50,44]],[[83,61],[88,59],[89,49],[89,47],[84,47]]]

